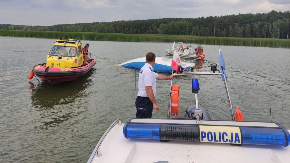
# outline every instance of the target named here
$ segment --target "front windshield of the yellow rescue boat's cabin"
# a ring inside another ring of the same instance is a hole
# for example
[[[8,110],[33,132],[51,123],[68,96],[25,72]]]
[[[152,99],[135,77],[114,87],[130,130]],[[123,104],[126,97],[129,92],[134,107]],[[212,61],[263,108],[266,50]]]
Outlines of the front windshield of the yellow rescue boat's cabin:
[[[50,56],[57,56],[58,54],[61,54],[61,56],[76,56],[76,47],[74,46],[58,46],[55,45],[51,48],[48,55]]]

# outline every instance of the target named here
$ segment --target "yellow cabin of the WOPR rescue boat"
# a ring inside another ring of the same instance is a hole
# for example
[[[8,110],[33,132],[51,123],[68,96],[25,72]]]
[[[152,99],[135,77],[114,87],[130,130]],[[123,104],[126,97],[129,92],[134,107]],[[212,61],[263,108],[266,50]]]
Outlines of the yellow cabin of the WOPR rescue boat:
[[[83,64],[82,43],[76,39],[54,42],[47,55],[47,67],[78,67]]]

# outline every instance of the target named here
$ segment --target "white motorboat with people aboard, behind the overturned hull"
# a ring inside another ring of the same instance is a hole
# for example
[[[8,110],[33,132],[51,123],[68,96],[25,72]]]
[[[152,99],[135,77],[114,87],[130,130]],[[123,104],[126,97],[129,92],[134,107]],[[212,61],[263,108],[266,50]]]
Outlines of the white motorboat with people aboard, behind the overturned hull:
[[[184,50],[180,50],[179,49],[180,46],[184,47]],[[193,53],[194,49],[192,49],[191,45],[184,46],[182,42],[174,42],[172,45],[172,49],[166,49],[165,53],[169,54],[169,56],[173,56],[174,51],[176,51],[179,57],[181,58],[195,59],[205,56],[204,54],[197,56],[195,53]],[[205,57],[203,57],[202,59],[204,58]]]

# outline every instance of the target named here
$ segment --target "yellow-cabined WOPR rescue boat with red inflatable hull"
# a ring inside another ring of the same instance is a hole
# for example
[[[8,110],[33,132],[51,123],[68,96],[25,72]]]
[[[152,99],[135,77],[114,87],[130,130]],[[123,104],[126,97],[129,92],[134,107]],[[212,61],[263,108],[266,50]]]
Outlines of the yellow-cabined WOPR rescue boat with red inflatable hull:
[[[46,63],[37,64],[31,70],[29,80],[36,75],[50,84],[73,81],[95,66],[95,59],[84,63],[82,43],[75,39],[60,39],[54,42],[47,55]]]

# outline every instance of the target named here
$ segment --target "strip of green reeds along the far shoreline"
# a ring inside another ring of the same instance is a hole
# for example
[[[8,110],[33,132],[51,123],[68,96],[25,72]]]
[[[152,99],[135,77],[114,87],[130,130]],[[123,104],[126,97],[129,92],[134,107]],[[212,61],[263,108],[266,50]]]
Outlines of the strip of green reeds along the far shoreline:
[[[184,42],[208,45],[229,46],[260,46],[290,48],[289,39],[273,38],[238,38],[238,37],[196,37],[189,35],[159,35],[159,34],[117,34],[117,33],[89,33],[89,32],[52,32],[52,31],[23,31],[0,30],[0,36],[35,37],[35,38],[73,38],[94,41],[121,42]]]

